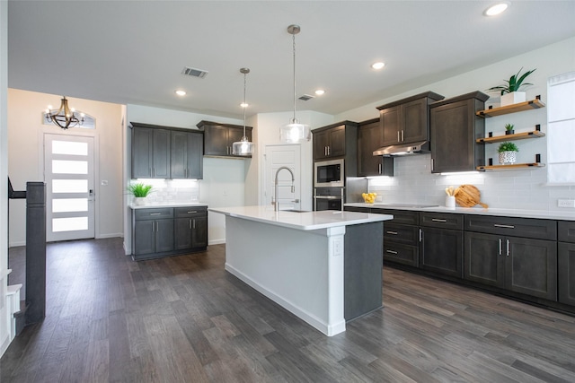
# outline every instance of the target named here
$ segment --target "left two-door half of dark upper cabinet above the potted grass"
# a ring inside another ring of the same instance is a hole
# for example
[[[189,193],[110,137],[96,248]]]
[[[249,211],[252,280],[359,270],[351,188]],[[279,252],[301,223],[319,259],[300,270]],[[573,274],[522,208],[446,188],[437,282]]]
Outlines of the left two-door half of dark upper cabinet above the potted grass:
[[[132,126],[132,178],[170,178],[170,131]]]

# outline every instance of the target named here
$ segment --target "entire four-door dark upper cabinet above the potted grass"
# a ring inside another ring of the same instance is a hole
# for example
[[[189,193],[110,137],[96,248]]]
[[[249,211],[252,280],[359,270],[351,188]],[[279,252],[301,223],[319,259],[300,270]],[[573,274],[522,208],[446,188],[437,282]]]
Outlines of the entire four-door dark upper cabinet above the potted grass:
[[[137,122],[130,124],[132,178],[202,178],[202,132]]]

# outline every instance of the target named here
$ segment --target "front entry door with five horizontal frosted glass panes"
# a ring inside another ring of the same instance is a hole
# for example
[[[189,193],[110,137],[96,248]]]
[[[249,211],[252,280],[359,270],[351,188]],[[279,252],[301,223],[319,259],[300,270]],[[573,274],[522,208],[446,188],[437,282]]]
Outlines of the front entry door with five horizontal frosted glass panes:
[[[94,238],[93,137],[44,135],[46,240]]]

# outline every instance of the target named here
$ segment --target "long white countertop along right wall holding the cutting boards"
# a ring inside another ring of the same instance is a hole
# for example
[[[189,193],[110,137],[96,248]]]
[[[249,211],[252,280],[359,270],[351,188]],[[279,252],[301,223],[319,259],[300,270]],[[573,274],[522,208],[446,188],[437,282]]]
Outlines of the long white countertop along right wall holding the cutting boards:
[[[458,214],[479,214],[479,215],[495,215],[504,217],[517,217],[517,218],[539,218],[545,220],[562,220],[562,221],[575,221],[575,210],[570,212],[552,212],[547,210],[520,210],[520,209],[500,209],[500,208],[487,208],[483,209],[477,207],[398,207],[393,204],[379,203],[368,205],[364,203],[345,204],[344,206],[353,207],[370,207],[372,209],[394,209],[394,210],[412,210],[418,212],[434,212],[434,213],[458,213]]]

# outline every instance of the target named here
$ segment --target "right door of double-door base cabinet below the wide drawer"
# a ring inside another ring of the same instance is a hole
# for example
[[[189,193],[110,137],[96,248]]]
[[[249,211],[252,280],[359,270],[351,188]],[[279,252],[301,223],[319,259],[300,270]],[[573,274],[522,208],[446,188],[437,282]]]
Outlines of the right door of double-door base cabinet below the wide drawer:
[[[505,241],[506,289],[556,301],[556,242],[513,237]]]

